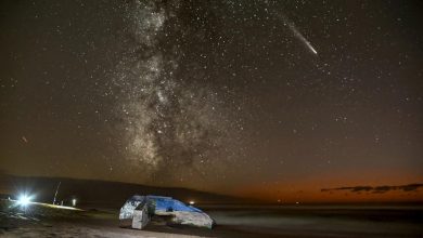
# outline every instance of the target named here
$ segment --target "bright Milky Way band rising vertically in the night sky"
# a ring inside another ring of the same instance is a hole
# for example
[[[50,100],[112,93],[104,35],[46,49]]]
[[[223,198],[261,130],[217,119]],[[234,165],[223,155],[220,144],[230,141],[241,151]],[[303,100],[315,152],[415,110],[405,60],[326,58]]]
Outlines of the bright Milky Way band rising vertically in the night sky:
[[[231,125],[217,92],[198,84],[201,70],[194,72],[200,78],[191,82],[179,74],[183,50],[175,39],[171,44],[168,41],[185,34],[185,26],[167,26],[178,21],[180,5],[139,1],[128,5],[131,41],[113,75],[121,95],[115,113],[123,118],[118,127],[125,134],[124,158],[143,177],[156,182],[183,180],[184,174],[220,166],[214,157]]]

